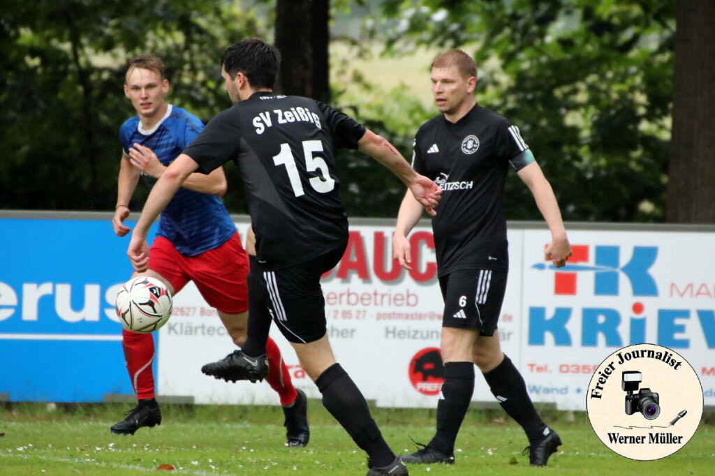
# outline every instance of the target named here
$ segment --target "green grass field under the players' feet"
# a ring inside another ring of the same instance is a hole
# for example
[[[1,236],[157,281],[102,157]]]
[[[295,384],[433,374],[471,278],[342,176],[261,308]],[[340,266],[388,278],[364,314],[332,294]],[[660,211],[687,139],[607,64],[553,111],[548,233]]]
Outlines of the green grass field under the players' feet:
[[[50,405],[52,406],[52,405]],[[365,456],[317,400],[310,401],[310,445],[283,446],[280,407],[162,405],[162,425],[134,436],[109,426],[130,405],[6,404],[0,410],[0,475],[141,475],[172,465],[182,475],[364,475]],[[373,409],[396,452],[427,442],[433,410]],[[412,475],[710,475],[715,426],[701,423],[691,441],[663,460],[627,460],[608,450],[586,415],[551,412],[545,420],[564,445],[546,468],[528,466],[526,437],[501,410],[470,410],[454,466],[410,466]]]

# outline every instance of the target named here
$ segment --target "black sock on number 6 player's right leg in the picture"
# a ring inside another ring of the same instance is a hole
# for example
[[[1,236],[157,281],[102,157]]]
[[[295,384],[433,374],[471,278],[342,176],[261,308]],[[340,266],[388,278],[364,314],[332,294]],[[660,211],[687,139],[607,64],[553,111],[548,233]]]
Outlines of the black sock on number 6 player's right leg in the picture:
[[[499,405],[524,429],[529,442],[541,440],[546,424],[536,413],[526,392],[526,383],[511,359],[505,355],[501,364],[486,372],[484,378]]]

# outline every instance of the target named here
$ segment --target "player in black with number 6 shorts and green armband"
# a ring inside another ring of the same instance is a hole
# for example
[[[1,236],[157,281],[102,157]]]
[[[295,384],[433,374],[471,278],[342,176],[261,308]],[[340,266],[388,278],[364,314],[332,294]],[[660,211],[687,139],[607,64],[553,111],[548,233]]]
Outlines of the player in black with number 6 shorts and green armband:
[[[445,381],[435,436],[401,458],[411,463],[454,462],[455,440],[474,391],[476,364],[503,409],[526,431],[531,465],[541,466],[561,440],[537,415],[523,377],[501,352],[495,335],[508,271],[503,193],[510,165],[531,189],[551,230],[546,259],[563,267],[571,245],[551,185],[517,127],[475,103],[476,76],[473,59],[463,51],[438,56],[432,64],[432,92],[442,114],[423,124],[415,136],[413,167],[443,189],[432,227],[445,300],[441,342]],[[406,269],[410,269],[406,237],[422,215],[412,202],[408,190],[393,236],[395,259]]]

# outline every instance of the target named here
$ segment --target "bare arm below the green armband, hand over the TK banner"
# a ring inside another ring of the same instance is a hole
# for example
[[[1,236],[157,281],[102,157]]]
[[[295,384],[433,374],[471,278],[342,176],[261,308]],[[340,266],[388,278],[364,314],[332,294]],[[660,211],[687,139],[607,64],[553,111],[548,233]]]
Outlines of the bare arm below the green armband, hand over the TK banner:
[[[561,210],[558,209],[558,202],[556,202],[551,184],[548,183],[541,167],[536,162],[531,162],[517,174],[531,190],[536,200],[536,206],[546,221],[548,229],[551,230],[551,243],[546,247],[546,259],[553,262],[557,268],[565,266],[566,260],[571,256],[571,244],[566,237],[566,227],[563,226]]]

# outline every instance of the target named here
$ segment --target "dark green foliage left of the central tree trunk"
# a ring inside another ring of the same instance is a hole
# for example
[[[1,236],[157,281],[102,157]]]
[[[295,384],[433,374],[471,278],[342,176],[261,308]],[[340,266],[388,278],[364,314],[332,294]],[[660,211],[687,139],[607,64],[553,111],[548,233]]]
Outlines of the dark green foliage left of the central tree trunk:
[[[0,208],[113,209],[119,125],[134,114],[122,92],[127,59],[162,56],[169,101],[205,121],[230,105],[221,52],[264,32],[231,1],[4,1]],[[242,211],[242,194],[227,198]]]

